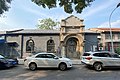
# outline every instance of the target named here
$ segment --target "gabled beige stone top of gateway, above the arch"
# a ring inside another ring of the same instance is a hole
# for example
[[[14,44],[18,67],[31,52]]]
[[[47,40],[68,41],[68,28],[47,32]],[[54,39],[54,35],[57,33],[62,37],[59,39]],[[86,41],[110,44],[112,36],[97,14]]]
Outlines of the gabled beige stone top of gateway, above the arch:
[[[83,21],[83,19],[79,19],[73,15],[67,17],[66,19],[61,21],[61,34],[83,33],[85,27]]]

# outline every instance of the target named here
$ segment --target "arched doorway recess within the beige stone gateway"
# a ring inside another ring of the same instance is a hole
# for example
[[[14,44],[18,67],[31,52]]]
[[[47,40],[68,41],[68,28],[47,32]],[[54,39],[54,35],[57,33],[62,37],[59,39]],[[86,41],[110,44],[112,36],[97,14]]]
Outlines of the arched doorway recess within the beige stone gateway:
[[[71,37],[66,41],[66,57],[79,58],[78,54],[79,41],[75,37]]]

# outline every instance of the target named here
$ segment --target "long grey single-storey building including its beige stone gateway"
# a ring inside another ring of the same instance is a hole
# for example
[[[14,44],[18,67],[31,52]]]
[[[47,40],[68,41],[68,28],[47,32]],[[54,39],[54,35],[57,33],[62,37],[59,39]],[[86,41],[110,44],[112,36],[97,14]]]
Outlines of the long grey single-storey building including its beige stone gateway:
[[[99,35],[85,30],[83,21],[72,15],[61,20],[60,30],[6,31],[1,34],[6,44],[3,54],[25,58],[37,52],[53,52],[58,56],[80,59],[84,51],[97,50]]]

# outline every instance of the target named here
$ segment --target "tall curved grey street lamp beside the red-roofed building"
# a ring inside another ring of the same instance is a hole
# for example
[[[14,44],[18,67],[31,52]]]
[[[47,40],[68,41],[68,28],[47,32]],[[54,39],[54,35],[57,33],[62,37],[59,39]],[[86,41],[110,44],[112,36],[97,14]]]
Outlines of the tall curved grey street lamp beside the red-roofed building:
[[[111,16],[113,14],[113,12],[120,6],[120,3],[118,3],[118,5],[115,7],[115,9],[113,9],[113,11],[111,12],[110,16],[109,16],[109,27],[110,27],[110,38],[111,38],[111,49],[112,49],[112,52],[114,53],[114,47],[113,47],[113,36],[112,36],[112,30],[111,30]]]

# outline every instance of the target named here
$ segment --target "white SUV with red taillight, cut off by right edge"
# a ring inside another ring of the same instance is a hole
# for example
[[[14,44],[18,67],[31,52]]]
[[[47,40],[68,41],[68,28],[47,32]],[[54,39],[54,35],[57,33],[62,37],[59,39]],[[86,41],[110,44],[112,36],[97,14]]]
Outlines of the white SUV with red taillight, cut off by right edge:
[[[101,71],[105,67],[120,67],[119,55],[108,51],[85,52],[81,62],[92,66],[96,71]]]

